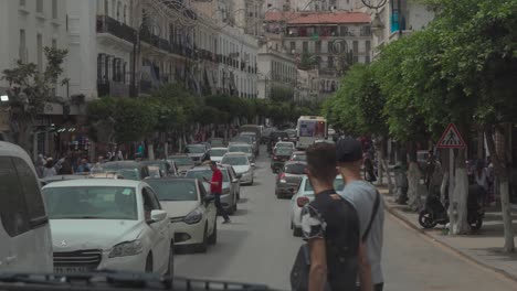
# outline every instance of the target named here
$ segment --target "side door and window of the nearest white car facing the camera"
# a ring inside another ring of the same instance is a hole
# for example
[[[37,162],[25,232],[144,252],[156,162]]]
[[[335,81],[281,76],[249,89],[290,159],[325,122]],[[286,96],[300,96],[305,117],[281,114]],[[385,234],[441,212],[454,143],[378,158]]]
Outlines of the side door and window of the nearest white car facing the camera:
[[[151,249],[152,249],[152,270],[162,268],[169,259],[169,245],[170,245],[170,231],[168,229],[169,219],[161,222],[151,222],[150,212],[160,211],[161,205],[156,198],[155,193],[150,187],[145,186],[141,190],[144,213],[149,228],[151,229]],[[147,214],[148,213],[148,214]]]

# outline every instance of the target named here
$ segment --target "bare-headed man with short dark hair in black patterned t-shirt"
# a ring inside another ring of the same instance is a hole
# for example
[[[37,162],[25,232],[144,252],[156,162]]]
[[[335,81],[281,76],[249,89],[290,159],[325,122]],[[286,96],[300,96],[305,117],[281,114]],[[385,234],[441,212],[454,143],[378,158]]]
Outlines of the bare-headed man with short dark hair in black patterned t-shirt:
[[[309,250],[310,267],[308,289],[296,290],[356,290],[359,273],[363,280],[362,290],[372,290],[367,250],[360,241],[358,214],[354,205],[334,188],[336,147],[326,142],[316,143],[307,149],[306,154],[305,173],[315,198],[302,209],[302,229]]]

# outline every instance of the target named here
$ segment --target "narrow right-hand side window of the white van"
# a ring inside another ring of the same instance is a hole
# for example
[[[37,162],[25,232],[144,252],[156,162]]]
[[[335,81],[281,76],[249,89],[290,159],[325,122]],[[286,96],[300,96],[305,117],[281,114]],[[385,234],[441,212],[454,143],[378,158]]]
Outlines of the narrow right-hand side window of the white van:
[[[42,223],[46,223],[48,219],[38,179],[25,161],[20,158],[12,158],[12,161],[14,162],[20,185],[28,202],[27,209],[30,216],[30,226],[40,226]]]

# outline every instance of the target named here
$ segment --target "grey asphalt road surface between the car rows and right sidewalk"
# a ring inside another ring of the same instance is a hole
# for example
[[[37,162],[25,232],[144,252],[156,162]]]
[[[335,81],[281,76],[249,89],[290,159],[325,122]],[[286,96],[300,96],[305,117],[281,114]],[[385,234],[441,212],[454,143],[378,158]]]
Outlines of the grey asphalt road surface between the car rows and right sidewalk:
[[[274,174],[264,150],[257,160],[255,184],[241,191],[232,224],[218,226],[218,244],[207,254],[176,256],[177,276],[289,290],[291,266],[302,239],[293,237],[289,229],[289,201],[274,195]],[[515,282],[465,261],[389,214],[383,267],[388,291],[516,290]]]

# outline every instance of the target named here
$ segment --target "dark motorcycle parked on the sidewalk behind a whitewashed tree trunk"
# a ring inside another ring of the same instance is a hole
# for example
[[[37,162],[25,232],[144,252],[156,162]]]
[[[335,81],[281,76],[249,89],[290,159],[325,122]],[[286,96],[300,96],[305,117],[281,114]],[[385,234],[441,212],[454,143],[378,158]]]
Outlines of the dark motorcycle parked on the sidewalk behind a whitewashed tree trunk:
[[[449,203],[442,204],[436,195],[428,195],[423,209],[419,213],[419,224],[423,228],[433,228],[436,225],[449,224],[447,215]],[[467,223],[471,230],[478,230],[483,225],[485,212],[478,203],[478,186],[468,186],[467,197]]]

